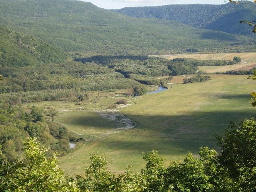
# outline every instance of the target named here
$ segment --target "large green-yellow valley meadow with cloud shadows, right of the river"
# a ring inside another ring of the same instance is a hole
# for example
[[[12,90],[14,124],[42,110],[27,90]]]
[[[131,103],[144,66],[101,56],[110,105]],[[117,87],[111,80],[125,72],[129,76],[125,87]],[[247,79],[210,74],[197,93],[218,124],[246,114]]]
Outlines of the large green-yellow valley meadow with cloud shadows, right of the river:
[[[73,176],[83,174],[90,164],[90,154],[99,153],[106,156],[113,172],[123,172],[128,164],[138,171],[145,165],[142,152],[158,150],[168,164],[184,158],[188,151],[196,154],[200,146],[216,147],[214,134],[221,135],[229,120],[239,122],[255,115],[249,98],[256,86],[252,80],[246,80],[247,76],[211,77],[204,83],[173,84],[172,89],[164,92],[130,97],[134,103],[123,108],[122,113],[138,126],[78,144],[72,153],[60,158],[60,167]],[[90,109],[60,112],[56,121],[91,138],[114,129],[112,122]]]

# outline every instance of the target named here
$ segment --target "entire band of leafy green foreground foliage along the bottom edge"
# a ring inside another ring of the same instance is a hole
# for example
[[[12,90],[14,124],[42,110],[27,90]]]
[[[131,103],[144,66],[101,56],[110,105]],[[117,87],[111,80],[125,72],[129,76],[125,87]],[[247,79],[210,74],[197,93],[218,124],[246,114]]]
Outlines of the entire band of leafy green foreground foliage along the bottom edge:
[[[46,149],[35,139],[25,142],[26,161],[6,162],[1,158],[0,187],[4,191],[60,192],[254,192],[256,190],[256,121],[246,119],[231,123],[218,138],[220,154],[207,147],[200,148],[198,158],[188,153],[183,163],[164,166],[157,151],[144,154],[146,168],[132,173],[112,174],[106,158],[90,157],[91,166],[84,176],[64,178],[58,169],[56,155],[46,158]]]

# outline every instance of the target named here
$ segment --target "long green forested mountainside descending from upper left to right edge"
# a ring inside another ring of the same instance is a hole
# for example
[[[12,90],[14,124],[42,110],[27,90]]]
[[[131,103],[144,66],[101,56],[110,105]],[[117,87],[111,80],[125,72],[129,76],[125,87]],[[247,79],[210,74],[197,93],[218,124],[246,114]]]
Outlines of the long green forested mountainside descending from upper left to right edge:
[[[132,18],[71,0],[0,0],[0,25],[78,56],[253,51],[244,36],[155,18]]]

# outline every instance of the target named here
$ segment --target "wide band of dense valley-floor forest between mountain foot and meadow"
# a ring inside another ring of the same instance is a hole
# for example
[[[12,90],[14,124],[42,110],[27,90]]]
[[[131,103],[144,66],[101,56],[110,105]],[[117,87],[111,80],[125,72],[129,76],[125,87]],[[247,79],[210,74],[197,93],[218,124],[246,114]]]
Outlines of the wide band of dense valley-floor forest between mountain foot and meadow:
[[[4,78],[0,83],[1,99],[12,103],[63,100],[75,96],[77,88],[81,91],[102,91],[129,89],[141,84],[159,86],[168,80],[156,77],[197,74],[201,73],[198,66],[231,65],[240,61],[238,57],[233,60],[167,60],[143,55],[93,56],[60,64],[42,62],[22,68],[3,66],[0,68]]]

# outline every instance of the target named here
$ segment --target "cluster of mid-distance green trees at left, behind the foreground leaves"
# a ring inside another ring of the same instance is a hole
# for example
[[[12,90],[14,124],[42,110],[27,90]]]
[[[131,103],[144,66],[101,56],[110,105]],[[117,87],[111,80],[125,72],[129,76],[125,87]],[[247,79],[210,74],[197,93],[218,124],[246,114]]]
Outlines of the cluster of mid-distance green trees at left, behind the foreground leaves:
[[[53,108],[42,110],[36,106],[12,106],[0,102],[0,145],[2,156],[8,161],[24,157],[22,141],[37,137],[40,144],[48,147],[48,155],[57,151],[64,155],[70,151],[69,141],[76,140],[65,126],[54,122],[58,112]]]

